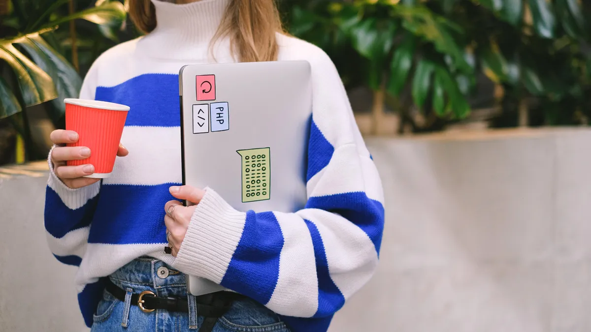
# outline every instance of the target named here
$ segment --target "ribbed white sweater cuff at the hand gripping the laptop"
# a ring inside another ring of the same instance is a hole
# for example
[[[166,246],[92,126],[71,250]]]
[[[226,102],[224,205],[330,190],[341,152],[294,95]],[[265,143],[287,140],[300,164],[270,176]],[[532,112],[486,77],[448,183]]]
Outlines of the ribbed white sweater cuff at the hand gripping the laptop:
[[[189,275],[220,284],[242,237],[246,213],[233,209],[211,188],[205,190],[175,264]]]

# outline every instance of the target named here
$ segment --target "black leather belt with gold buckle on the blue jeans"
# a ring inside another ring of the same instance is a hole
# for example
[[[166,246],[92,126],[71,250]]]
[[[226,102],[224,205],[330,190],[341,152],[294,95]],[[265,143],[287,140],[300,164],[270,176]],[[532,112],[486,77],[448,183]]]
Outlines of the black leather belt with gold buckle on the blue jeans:
[[[113,297],[125,301],[125,295],[127,292],[113,284],[111,279],[107,279],[105,289],[111,293]],[[222,317],[222,315],[232,307],[232,302],[240,298],[245,297],[244,295],[226,291],[196,296],[197,315],[205,318],[199,332],[211,331],[213,326],[215,326],[217,318]],[[151,313],[156,309],[170,312],[189,312],[189,300],[187,300],[186,297],[157,297],[154,292],[151,291],[132,294],[131,304],[137,305],[142,311],[144,311],[144,313]]]

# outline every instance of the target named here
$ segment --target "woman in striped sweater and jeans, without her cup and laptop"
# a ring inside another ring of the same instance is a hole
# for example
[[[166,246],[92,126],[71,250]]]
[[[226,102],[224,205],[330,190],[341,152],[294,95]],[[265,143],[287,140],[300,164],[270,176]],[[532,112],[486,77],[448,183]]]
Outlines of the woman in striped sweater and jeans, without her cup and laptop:
[[[92,331],[326,331],[374,272],[384,223],[379,175],[339,75],[322,50],[281,33],[272,0],[183,2],[130,0],[147,35],[102,54],[85,78],[81,98],[133,110],[112,176],[66,166],[92,151],[64,147],[75,132],[51,134],[50,248],[79,266]],[[274,60],[312,68],[305,209],[237,211],[215,188],[181,187],[180,67]],[[187,294],[186,274],[222,290]]]

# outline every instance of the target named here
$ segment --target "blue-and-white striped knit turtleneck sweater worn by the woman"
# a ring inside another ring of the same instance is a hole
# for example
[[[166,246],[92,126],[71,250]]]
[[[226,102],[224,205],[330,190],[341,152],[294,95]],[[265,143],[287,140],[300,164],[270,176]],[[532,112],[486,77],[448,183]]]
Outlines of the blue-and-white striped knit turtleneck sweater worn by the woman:
[[[226,1],[152,0],[156,30],[102,54],[85,78],[81,98],[132,110],[122,136],[130,153],[118,158],[111,177],[76,190],[53,169],[48,180],[48,243],[59,261],[79,266],[75,282],[87,326],[104,277],[142,255],[261,302],[295,332],[326,331],[375,271],[384,227],[378,172],[330,58],[285,35],[277,36],[279,60],[311,64],[306,206],[237,211],[210,188],[177,258],[163,253],[164,204],[174,199],[168,187],[181,183],[178,70],[234,61],[228,40],[209,47]]]

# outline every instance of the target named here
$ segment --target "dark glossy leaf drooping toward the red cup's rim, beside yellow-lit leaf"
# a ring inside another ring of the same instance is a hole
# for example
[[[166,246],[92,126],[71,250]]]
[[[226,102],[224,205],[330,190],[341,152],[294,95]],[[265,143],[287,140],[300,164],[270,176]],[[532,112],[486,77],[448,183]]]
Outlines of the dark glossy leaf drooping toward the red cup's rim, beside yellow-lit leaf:
[[[44,70],[56,86],[59,98],[53,100],[56,109],[65,112],[63,100],[77,97],[82,87],[82,79],[66,58],[57,53],[39,34],[28,34],[18,38],[15,43],[21,45],[35,63]]]

